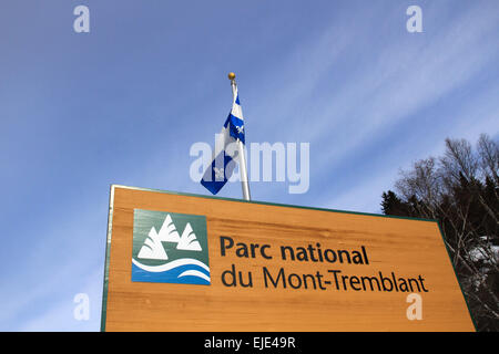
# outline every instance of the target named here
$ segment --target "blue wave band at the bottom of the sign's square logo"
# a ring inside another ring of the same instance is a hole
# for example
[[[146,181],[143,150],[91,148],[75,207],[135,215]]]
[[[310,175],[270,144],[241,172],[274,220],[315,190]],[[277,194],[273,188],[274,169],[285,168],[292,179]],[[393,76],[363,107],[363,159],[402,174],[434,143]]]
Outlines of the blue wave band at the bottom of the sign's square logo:
[[[132,263],[132,281],[210,285],[210,271],[196,266],[177,266],[161,272],[149,272]]]

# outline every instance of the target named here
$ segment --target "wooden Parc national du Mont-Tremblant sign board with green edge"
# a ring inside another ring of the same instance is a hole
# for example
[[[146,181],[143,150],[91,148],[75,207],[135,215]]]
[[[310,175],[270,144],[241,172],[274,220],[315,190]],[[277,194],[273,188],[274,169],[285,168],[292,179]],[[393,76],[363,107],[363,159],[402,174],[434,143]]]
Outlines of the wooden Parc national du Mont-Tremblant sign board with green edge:
[[[111,187],[104,331],[475,331],[438,223]]]

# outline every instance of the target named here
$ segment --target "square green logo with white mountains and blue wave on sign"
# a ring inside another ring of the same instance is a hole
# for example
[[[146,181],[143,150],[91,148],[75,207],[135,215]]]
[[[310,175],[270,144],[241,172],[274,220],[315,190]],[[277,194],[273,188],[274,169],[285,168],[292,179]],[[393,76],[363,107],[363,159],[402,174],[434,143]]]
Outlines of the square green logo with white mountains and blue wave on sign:
[[[132,281],[210,285],[206,218],[134,209]]]

